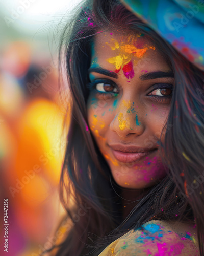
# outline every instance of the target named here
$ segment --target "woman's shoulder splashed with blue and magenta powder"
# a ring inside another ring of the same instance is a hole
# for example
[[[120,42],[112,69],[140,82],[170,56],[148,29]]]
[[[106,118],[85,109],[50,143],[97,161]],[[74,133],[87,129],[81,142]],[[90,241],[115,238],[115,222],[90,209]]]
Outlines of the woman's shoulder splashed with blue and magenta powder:
[[[152,220],[130,230],[111,243],[99,256],[199,256],[195,227],[185,223]]]

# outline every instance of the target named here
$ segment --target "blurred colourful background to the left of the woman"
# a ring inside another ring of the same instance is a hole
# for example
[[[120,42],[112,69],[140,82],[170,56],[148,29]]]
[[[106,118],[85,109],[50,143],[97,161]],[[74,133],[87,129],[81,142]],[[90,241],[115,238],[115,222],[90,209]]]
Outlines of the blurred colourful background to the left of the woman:
[[[0,255],[37,256],[61,237],[68,90],[65,82],[60,97],[58,44],[60,27],[79,2],[0,0]]]

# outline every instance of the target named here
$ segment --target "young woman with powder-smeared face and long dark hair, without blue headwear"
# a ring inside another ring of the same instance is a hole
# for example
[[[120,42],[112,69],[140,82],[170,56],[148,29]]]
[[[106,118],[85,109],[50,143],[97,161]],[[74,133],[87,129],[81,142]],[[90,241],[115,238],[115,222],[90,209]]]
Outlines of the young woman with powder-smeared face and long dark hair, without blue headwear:
[[[80,5],[59,57],[71,224],[55,255],[204,255],[201,68],[117,0]]]

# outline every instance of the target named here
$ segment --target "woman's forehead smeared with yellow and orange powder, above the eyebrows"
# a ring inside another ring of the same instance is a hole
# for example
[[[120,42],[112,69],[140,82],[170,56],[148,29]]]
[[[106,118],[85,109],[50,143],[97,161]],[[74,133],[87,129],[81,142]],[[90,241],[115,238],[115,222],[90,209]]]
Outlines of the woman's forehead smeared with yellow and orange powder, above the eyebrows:
[[[97,59],[100,65],[115,65],[116,69],[130,61],[133,66],[139,60],[148,59],[148,63],[165,61],[157,47],[147,38],[138,32],[137,34],[121,35],[118,32],[103,32],[97,34],[92,45],[92,60]]]

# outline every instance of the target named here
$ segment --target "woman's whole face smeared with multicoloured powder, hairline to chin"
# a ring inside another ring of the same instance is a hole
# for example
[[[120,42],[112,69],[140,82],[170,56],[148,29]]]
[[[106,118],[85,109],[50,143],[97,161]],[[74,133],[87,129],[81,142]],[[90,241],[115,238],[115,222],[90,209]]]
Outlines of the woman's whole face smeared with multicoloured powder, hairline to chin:
[[[88,124],[116,183],[154,185],[166,175],[158,147],[174,87],[159,49],[140,33],[98,34],[89,77]]]

